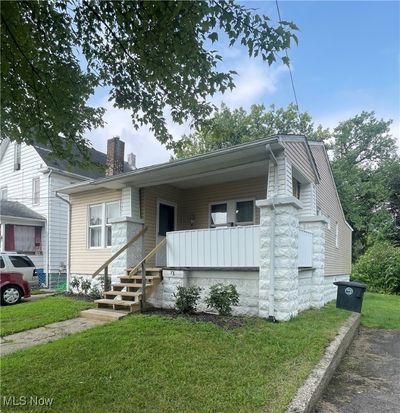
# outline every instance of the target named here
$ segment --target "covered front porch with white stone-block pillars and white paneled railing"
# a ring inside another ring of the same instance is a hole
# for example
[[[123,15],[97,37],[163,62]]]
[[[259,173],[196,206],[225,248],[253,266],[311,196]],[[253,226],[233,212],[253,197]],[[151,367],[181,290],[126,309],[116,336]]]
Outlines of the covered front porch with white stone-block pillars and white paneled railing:
[[[123,216],[112,221],[113,252],[146,231],[114,261],[113,281],[159,246],[146,259],[162,269],[149,298],[156,306],[172,307],[179,285],[198,285],[206,294],[223,282],[239,291],[236,314],[287,320],[321,307],[327,220],[317,214],[317,178],[290,162],[282,147],[253,155],[254,162],[230,159],[213,171],[176,171],[164,182],[126,182]]]

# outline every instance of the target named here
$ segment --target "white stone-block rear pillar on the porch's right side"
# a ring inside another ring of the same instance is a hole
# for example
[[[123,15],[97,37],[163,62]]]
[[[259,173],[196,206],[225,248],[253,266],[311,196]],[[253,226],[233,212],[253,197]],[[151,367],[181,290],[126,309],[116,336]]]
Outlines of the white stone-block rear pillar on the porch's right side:
[[[313,234],[311,307],[325,304],[325,227],[328,219],[323,215],[300,217],[300,228]]]

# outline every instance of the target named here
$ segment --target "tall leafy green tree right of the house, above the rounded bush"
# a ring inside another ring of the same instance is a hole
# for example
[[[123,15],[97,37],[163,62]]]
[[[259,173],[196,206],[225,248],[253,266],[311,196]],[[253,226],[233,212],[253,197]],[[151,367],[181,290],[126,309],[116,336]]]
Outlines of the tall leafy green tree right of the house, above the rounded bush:
[[[391,123],[362,112],[340,122],[332,134],[332,170],[354,229],[354,259],[377,240],[400,241],[400,163]]]

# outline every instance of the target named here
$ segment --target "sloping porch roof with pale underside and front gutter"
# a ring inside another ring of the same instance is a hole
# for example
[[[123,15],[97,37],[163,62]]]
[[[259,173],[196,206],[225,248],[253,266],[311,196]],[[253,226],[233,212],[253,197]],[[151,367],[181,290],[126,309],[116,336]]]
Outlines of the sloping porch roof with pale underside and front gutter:
[[[127,185],[147,187],[172,184],[190,188],[211,183],[231,181],[266,174],[266,161],[270,153],[265,146],[271,145],[276,153],[284,149],[284,135],[247,142],[203,155],[172,162],[151,165],[116,176],[85,181],[60,189],[58,192],[73,194],[99,188],[121,189]]]

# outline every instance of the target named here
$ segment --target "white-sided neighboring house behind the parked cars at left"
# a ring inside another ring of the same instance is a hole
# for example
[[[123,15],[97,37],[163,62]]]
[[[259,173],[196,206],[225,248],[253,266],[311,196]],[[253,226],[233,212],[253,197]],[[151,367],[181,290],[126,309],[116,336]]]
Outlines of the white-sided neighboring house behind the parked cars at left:
[[[108,150],[113,144],[123,147],[114,138]],[[55,287],[66,281],[69,220],[68,196],[57,195],[57,190],[104,173],[70,168],[50,154],[50,149],[39,145],[1,142],[0,250],[28,255],[44,273],[44,284]],[[102,152],[91,149],[91,158],[110,166]],[[124,165],[124,171],[131,169]]]

